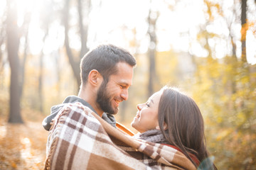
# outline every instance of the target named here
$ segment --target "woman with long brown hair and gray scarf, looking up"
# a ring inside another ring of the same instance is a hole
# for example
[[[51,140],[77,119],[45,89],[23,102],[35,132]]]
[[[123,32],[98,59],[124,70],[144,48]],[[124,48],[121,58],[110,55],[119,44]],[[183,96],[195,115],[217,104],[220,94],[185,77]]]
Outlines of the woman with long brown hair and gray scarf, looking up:
[[[135,138],[174,147],[201,169],[217,169],[207,159],[203,117],[192,98],[165,86],[137,109],[132,127],[140,133]]]

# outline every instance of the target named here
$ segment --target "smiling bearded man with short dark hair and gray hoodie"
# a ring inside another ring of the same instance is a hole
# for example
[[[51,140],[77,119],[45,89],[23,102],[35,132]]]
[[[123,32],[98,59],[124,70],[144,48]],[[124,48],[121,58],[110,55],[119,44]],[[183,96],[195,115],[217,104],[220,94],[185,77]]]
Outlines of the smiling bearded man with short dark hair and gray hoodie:
[[[63,104],[53,106],[43,120],[43,128],[50,130],[50,122],[67,103],[80,102],[93,112],[116,125],[114,114],[119,103],[127,100],[132,85],[134,57],[114,45],[100,45],[87,52],[80,63],[81,86],[78,96],[68,96]]]

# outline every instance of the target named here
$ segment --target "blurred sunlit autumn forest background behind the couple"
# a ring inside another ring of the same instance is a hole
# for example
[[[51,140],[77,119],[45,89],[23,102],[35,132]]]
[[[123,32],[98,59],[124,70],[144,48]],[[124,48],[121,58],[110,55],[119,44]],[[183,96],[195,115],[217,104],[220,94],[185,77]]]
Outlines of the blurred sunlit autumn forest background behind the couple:
[[[256,169],[255,0],[0,0],[0,169],[43,169],[50,107],[77,95],[95,45],[137,59],[137,103],[169,84],[198,103],[218,169]]]

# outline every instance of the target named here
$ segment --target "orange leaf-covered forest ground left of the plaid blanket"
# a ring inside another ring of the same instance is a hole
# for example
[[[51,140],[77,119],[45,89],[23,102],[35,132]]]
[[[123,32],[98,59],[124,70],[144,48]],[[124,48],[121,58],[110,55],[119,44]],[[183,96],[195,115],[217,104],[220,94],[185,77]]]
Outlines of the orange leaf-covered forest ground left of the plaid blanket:
[[[0,118],[0,169],[43,169],[48,132],[41,121],[6,122]]]

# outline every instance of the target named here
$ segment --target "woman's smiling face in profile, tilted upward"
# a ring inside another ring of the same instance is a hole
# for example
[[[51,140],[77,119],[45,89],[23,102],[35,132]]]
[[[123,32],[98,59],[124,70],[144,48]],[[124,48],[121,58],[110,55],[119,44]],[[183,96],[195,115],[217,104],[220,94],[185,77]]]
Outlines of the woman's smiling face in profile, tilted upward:
[[[132,121],[132,127],[139,132],[154,130],[158,123],[158,108],[162,91],[153,94],[146,103],[137,105],[137,114]]]

